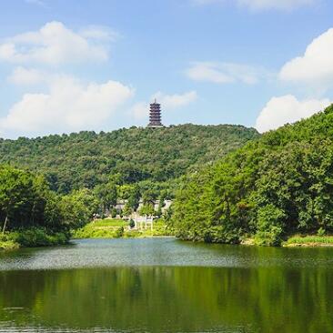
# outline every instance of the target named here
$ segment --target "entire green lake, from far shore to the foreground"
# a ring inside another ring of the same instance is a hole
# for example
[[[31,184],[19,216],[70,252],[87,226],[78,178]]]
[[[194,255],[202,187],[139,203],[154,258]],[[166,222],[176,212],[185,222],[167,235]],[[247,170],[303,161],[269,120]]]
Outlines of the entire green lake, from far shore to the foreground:
[[[0,332],[333,332],[333,248],[155,238],[0,253]]]

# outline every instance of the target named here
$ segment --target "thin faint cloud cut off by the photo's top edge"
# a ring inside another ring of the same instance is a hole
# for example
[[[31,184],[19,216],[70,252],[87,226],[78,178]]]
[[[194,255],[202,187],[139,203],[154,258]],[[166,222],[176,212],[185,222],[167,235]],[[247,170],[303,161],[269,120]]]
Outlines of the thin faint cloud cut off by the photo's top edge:
[[[315,0],[192,0],[192,2],[196,5],[236,4],[247,6],[255,12],[270,9],[290,11],[301,6],[315,4]]]

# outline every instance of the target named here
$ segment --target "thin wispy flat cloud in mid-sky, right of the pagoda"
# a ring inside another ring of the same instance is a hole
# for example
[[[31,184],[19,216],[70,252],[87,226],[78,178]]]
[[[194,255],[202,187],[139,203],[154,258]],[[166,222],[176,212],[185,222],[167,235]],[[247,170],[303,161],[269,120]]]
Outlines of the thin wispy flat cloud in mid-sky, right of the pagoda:
[[[256,84],[262,77],[268,76],[265,70],[254,66],[233,63],[197,62],[187,69],[186,75],[194,81],[228,84],[241,82]]]

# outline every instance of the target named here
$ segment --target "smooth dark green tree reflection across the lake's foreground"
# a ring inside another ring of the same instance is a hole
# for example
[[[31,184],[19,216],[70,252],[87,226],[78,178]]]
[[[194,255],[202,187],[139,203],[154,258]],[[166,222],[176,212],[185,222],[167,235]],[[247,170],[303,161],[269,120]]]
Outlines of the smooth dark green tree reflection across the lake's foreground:
[[[3,272],[0,307],[28,307],[39,324],[69,328],[330,332],[332,278],[323,267]]]

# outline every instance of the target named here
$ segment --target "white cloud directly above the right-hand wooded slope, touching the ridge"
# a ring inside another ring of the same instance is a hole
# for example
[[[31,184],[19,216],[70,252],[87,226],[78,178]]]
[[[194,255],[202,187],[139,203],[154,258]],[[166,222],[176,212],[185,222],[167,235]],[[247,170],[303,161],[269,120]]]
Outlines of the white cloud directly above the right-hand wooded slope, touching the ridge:
[[[257,117],[256,128],[260,133],[276,129],[312,116],[330,104],[328,99],[299,101],[292,95],[273,97]]]

